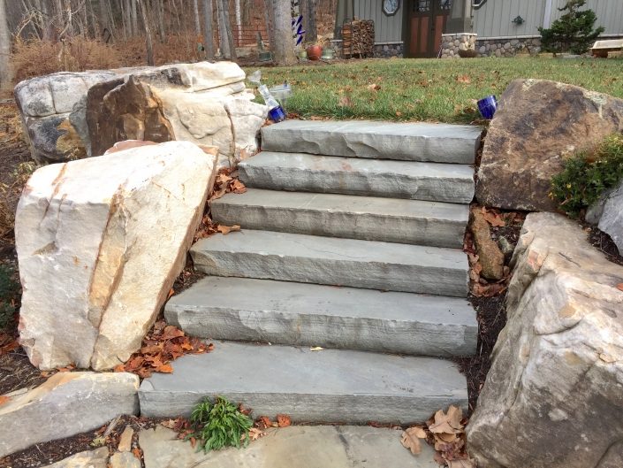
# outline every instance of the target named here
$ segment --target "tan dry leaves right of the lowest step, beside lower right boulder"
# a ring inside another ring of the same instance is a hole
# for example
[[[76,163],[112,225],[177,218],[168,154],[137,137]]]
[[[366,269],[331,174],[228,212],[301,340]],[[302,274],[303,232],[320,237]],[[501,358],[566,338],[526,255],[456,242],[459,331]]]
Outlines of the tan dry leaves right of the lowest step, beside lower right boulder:
[[[475,462],[465,451],[465,426],[467,418],[463,411],[451,405],[447,412],[438,410],[426,422],[426,427],[413,426],[402,433],[402,445],[414,455],[422,451],[420,439],[426,440],[435,450],[435,461],[448,468],[476,468]]]

